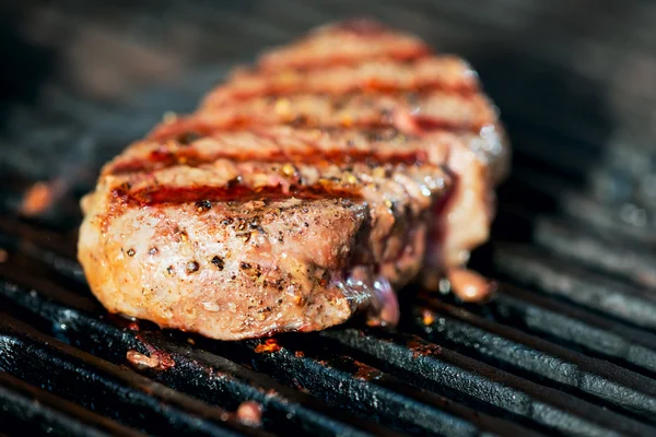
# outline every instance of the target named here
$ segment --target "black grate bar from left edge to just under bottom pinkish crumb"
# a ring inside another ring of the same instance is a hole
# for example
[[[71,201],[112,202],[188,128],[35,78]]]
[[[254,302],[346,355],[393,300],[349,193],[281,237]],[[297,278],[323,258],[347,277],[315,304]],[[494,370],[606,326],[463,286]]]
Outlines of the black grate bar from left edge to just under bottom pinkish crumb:
[[[266,435],[239,425],[223,410],[47,338],[8,315],[2,315],[0,335],[4,371],[149,433]]]

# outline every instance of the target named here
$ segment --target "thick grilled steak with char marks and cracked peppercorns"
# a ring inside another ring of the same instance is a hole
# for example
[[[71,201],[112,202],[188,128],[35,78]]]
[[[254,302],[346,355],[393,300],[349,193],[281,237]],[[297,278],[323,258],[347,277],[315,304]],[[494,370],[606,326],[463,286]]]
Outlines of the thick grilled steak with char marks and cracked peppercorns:
[[[484,241],[507,153],[461,60],[371,22],[233,74],[107,164],[79,258],[110,310],[225,340],[313,331]]]

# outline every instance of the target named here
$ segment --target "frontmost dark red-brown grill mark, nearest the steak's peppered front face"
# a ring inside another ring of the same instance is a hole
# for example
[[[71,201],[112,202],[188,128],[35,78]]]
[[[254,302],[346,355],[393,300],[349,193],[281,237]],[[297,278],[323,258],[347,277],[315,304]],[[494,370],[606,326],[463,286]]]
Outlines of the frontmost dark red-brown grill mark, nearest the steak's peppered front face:
[[[112,190],[110,197],[115,202],[132,206],[196,203],[199,200],[209,202],[245,202],[249,200],[284,200],[290,198],[303,200],[362,199],[359,190],[336,186],[330,181],[303,186],[292,185],[289,188],[280,185],[254,188],[239,182],[227,184],[227,186],[223,187],[155,186],[139,190],[128,190],[119,187]]]

